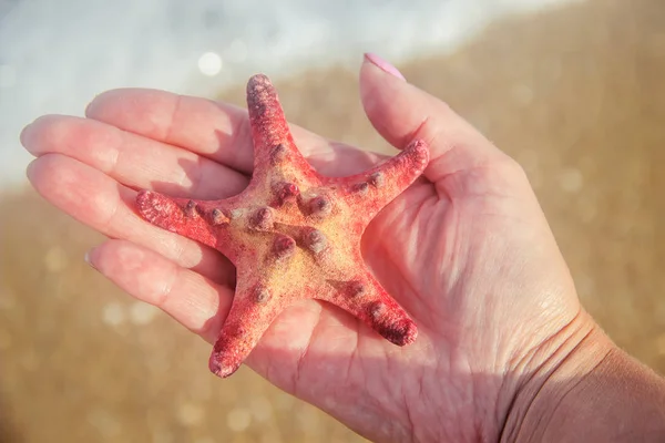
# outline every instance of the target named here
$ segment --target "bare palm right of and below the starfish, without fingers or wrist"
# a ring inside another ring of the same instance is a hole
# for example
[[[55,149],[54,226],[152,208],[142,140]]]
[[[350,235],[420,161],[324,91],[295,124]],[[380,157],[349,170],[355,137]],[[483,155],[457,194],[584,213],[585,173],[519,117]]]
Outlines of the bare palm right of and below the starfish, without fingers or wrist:
[[[504,194],[498,192],[502,188]],[[396,427],[419,426],[423,433],[446,422],[448,437],[472,439],[478,420],[498,431],[495,409],[504,382],[499,374],[511,371],[514,361],[562,328],[576,309],[576,300],[565,298],[572,282],[557,255],[551,259],[556,246],[538,205],[523,214],[513,210],[515,200],[530,198],[523,173],[504,161],[437,184],[417,182],[364,236],[366,260],[419,327],[416,343],[395,348],[335,309],[317,310],[307,322],[303,310],[295,309],[279,321],[307,326],[268,334],[253,362],[280,388],[358,430],[368,416],[357,416],[348,404],[376,409],[377,421],[390,411]],[[534,251],[533,245],[544,245],[544,250]],[[551,275],[528,269],[533,266],[524,264],[529,259]],[[520,272],[534,277],[521,279],[518,291]],[[552,284],[543,286],[549,279]],[[505,299],[497,302],[498,297]],[[532,316],[546,303],[554,306],[551,312]],[[498,333],[520,328],[524,336],[516,340]],[[296,334],[308,337],[307,347],[285,356],[278,343],[298,342]],[[331,384],[338,389],[330,390]],[[446,394],[439,396],[441,390]],[[382,403],[377,405],[376,399]]]

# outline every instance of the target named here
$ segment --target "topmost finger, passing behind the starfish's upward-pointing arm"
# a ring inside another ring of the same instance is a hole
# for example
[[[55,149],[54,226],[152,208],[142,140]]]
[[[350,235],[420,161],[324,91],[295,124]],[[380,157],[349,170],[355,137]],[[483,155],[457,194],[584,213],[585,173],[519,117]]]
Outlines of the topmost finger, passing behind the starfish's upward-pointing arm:
[[[98,95],[85,115],[252,173],[252,130],[246,110],[164,91],[120,89]],[[305,156],[332,152],[325,138],[295,125],[289,127]]]

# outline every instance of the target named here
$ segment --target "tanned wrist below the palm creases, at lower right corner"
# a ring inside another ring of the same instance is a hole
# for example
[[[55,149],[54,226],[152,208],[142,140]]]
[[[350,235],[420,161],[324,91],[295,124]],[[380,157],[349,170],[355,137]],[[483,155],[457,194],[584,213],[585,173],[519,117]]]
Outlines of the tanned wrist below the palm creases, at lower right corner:
[[[518,390],[502,442],[665,437],[665,381],[583,317],[584,324],[557,350],[560,358],[532,372]]]

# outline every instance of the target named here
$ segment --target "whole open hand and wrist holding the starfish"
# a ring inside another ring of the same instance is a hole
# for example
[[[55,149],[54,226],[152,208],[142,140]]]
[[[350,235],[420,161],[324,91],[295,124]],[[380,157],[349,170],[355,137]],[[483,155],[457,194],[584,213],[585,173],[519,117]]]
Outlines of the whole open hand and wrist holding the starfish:
[[[610,441],[580,432],[610,414],[663,436],[663,380],[616,349],[580,306],[522,168],[444,103],[369,60],[360,92],[390,144],[422,138],[430,147],[423,176],[362,239],[366,261],[415,319],[418,339],[398,348],[308,300],[277,318],[247,364],[375,441]],[[380,159],[293,133],[325,175]],[[142,220],[133,202],[139,188],[187,198],[241,192],[253,158],[246,112],[116,90],[98,96],[86,119],[44,116],[21,140],[38,157],[28,171],[37,190],[112,238],[90,251],[91,265],[213,342],[233,267]],[[617,379],[635,389],[617,389]],[[591,429],[610,433],[617,421],[602,423]]]

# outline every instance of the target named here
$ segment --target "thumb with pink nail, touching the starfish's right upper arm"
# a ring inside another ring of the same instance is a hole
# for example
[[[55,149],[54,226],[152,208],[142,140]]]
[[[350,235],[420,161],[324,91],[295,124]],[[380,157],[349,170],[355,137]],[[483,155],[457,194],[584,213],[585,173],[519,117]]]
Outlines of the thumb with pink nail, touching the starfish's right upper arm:
[[[365,55],[360,97],[369,121],[388,143],[403,148],[420,138],[429,145],[424,175],[431,182],[508,158],[446,103],[407,83],[375,54]]]

